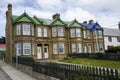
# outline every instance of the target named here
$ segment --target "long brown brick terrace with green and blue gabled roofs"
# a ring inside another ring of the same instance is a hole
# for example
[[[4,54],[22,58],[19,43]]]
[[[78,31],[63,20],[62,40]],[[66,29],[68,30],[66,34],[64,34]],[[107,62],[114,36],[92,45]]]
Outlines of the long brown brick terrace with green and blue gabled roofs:
[[[30,17],[26,12],[12,15],[12,5],[8,4],[6,45],[8,62],[16,54],[34,59],[61,59],[69,53],[104,52],[104,37],[102,27],[92,20],[63,21],[58,13],[52,19]]]

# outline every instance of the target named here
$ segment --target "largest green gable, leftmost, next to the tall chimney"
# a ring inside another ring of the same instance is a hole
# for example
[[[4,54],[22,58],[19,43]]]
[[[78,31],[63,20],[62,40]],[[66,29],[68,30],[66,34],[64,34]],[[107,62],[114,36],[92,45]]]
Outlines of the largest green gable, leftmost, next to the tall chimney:
[[[24,12],[19,17],[14,18],[13,24],[16,22],[32,22],[34,24],[37,24],[26,12]]]

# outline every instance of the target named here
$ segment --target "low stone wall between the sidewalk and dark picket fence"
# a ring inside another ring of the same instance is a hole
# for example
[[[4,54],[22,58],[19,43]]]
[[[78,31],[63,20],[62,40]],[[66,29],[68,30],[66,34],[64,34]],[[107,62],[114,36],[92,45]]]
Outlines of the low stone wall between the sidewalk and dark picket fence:
[[[15,66],[15,64],[13,64],[13,65]],[[57,79],[57,78],[54,78],[54,77],[51,77],[51,76],[48,76],[45,74],[34,72],[32,70],[32,67],[30,67],[30,66],[18,64],[18,69],[32,77],[35,77],[38,80],[60,80],[60,79]]]

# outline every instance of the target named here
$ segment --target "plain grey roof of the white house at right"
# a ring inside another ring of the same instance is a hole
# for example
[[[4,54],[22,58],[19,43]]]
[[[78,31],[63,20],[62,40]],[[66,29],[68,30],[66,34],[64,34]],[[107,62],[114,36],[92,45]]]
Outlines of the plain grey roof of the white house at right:
[[[103,28],[105,36],[120,36],[119,29]]]

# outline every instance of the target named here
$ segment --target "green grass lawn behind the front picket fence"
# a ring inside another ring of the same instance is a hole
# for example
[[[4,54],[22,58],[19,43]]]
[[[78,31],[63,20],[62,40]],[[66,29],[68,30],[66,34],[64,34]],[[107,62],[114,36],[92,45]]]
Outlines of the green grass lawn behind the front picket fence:
[[[60,60],[60,62],[75,63],[89,66],[107,67],[120,70],[120,61],[96,60],[88,58],[75,58],[70,60]]]

